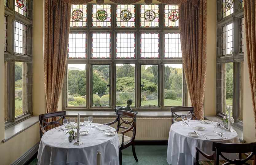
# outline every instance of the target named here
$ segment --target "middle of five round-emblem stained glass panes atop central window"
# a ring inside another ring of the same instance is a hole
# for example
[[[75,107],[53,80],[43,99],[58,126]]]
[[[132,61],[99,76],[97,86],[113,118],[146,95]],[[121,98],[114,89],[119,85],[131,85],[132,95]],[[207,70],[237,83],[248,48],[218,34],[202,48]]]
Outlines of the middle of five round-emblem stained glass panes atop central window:
[[[135,26],[135,5],[117,5],[116,26],[134,27]]]

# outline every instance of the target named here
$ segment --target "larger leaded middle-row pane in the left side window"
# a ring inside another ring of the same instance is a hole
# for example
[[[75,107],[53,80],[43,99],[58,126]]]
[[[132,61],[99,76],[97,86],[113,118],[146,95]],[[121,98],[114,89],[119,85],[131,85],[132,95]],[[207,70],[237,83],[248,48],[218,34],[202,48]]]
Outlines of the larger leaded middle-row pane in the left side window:
[[[26,54],[26,25],[15,21],[14,25],[14,52]]]

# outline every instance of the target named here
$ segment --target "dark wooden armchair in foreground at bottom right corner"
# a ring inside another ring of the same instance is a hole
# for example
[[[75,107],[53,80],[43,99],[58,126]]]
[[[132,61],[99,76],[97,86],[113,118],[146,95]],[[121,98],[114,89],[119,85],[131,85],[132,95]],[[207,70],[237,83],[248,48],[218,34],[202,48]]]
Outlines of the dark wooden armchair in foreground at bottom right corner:
[[[199,153],[202,154],[205,158],[209,160],[214,160],[215,165],[219,165],[219,163],[223,165],[228,164],[247,164],[247,161],[254,160],[255,162],[255,156],[256,156],[256,142],[253,143],[243,143],[243,144],[236,144],[236,143],[212,143],[212,151],[214,153],[212,155],[206,154],[202,149],[199,149],[196,147],[196,161],[195,165],[200,165],[199,163]],[[225,156],[223,156],[222,153],[238,153],[238,159],[231,160]],[[242,159],[243,153],[250,153],[247,154],[245,159]],[[223,157],[224,160],[220,161],[219,156]]]

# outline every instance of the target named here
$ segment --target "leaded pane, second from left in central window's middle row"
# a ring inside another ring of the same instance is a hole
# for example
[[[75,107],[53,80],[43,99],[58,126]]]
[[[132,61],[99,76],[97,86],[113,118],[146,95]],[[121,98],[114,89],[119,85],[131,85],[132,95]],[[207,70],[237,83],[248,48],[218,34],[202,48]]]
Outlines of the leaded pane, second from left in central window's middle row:
[[[110,33],[93,33],[92,35],[92,57],[110,58],[111,47]]]

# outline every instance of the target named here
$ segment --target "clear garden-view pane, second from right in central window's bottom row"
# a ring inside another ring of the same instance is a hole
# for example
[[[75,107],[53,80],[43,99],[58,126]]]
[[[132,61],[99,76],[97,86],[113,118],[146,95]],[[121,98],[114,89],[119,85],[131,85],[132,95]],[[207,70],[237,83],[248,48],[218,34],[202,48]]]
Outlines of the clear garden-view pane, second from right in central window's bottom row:
[[[158,106],[158,65],[141,65],[141,106]]]

